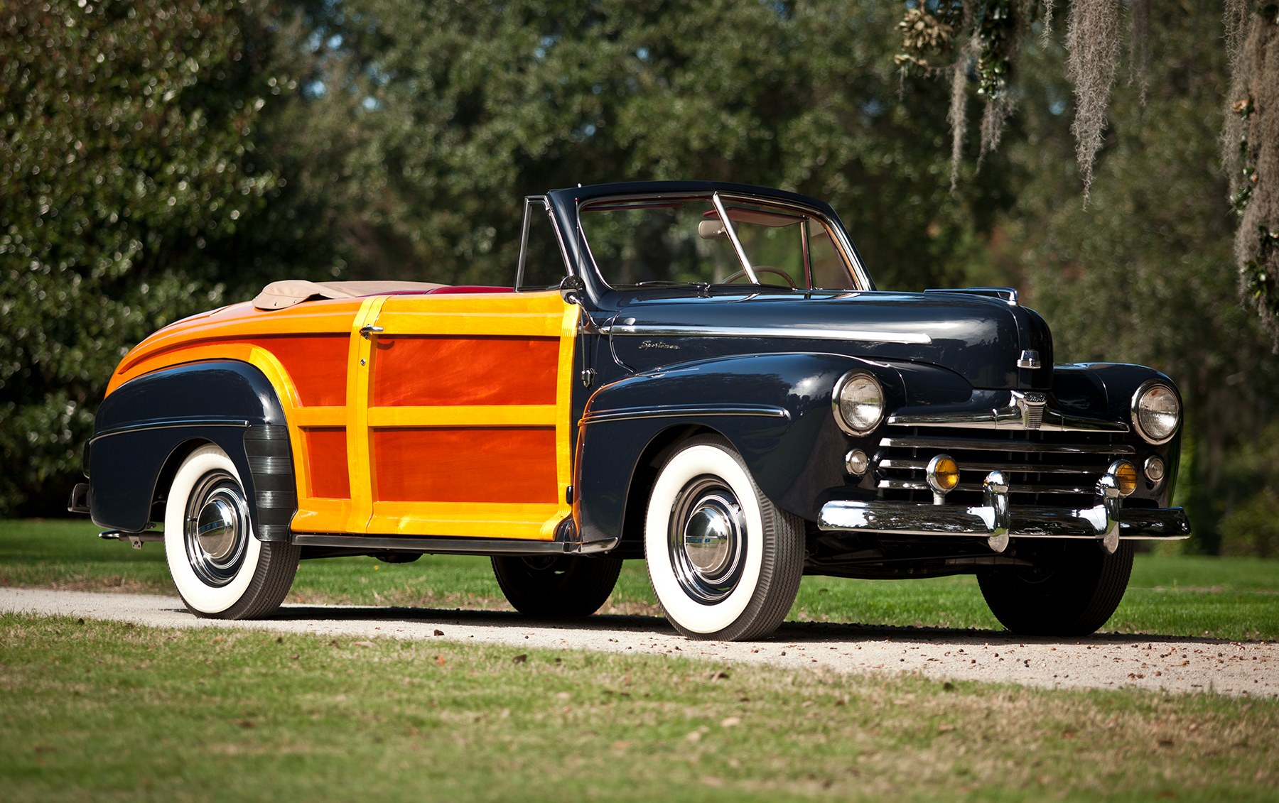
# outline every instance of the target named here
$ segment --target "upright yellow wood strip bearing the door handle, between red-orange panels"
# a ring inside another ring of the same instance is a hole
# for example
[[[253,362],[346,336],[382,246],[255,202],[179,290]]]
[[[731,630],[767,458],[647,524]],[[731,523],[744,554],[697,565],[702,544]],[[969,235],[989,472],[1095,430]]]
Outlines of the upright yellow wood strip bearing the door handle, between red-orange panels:
[[[377,318],[385,295],[366,298],[350,324],[350,350],[347,359],[347,471],[350,481],[350,514],[347,532],[365,532],[373,505],[373,467],[368,432],[370,372],[376,350],[372,338],[359,334],[362,326]]]

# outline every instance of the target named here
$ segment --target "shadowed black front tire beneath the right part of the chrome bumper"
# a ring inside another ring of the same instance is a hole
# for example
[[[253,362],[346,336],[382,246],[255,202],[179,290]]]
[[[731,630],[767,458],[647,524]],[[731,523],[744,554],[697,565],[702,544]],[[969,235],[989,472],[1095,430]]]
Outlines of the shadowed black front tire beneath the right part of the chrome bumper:
[[[1035,563],[978,575],[986,605],[999,621],[1024,635],[1087,635],[1110,619],[1132,574],[1132,542],[1114,555],[1096,543],[1042,541],[1018,549]]]

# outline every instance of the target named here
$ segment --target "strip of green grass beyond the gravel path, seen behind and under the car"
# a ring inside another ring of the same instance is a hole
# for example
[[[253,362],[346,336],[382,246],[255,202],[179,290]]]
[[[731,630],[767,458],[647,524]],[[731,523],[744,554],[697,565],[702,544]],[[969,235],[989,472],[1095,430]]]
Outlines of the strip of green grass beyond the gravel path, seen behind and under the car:
[[[101,541],[83,520],[0,522],[0,586],[175,593],[164,547]],[[506,609],[489,560],[423,556],[411,564],[371,557],[303,561],[294,602]],[[660,615],[642,561],[627,561],[604,612]],[[998,630],[972,577],[852,581],[810,577],[792,619],[871,625]],[[1279,638],[1279,561],[1138,555],[1119,610],[1120,633]]]

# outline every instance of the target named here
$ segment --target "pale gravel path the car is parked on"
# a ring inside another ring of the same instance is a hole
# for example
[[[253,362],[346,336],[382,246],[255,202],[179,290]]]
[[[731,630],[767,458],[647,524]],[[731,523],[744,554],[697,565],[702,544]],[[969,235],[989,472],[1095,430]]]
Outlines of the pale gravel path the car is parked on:
[[[246,628],[339,638],[475,639],[824,667],[1045,688],[1141,688],[1279,697],[1279,643],[1102,634],[1023,639],[991,630],[787,623],[761,642],[696,642],[651,616],[593,616],[572,625],[500,611],[286,605],[267,621],[197,619],[173,597],[0,588],[0,611],[115,619],[159,628]],[[437,635],[441,632],[443,635]]]

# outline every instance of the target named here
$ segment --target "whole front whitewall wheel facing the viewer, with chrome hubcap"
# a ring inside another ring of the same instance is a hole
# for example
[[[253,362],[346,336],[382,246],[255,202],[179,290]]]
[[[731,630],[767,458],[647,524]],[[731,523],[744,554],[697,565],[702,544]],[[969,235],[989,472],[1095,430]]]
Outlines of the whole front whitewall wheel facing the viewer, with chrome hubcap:
[[[648,497],[645,557],[663,612],[689,638],[767,635],[803,575],[803,522],[760,491],[719,436],[683,444]]]

